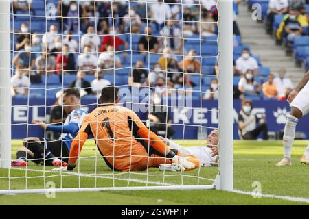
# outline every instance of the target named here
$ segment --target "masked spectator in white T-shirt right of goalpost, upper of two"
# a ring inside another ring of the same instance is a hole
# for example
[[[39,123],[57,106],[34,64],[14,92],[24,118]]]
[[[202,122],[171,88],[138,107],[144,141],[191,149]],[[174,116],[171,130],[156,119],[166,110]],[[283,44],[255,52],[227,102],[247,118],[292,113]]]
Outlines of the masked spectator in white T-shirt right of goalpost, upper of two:
[[[236,60],[237,75],[244,75],[247,70],[253,70],[253,75],[256,77],[259,73],[258,62],[250,56],[249,49],[242,49],[242,56]]]

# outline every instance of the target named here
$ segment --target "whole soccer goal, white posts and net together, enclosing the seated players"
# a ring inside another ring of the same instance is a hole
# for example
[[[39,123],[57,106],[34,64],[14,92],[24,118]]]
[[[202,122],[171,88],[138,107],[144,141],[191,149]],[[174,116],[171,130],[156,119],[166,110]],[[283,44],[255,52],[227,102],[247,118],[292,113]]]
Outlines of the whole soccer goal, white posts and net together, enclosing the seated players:
[[[231,1],[12,0],[0,17],[0,194],[233,189]],[[55,170],[80,127],[75,168]]]

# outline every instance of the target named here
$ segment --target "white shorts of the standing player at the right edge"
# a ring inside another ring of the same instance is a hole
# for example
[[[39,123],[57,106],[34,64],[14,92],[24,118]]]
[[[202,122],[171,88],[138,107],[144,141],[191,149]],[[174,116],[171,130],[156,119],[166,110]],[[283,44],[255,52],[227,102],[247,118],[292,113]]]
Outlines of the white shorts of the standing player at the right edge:
[[[303,89],[295,96],[292,103],[290,103],[290,107],[296,107],[299,109],[303,116],[308,114],[309,112],[309,82],[306,83]]]

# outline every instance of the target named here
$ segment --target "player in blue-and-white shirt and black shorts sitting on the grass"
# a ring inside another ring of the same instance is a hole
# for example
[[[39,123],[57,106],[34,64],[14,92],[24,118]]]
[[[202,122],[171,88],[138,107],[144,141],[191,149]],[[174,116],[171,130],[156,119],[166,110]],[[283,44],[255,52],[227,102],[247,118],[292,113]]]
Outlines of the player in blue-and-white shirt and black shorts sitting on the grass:
[[[36,164],[66,166],[71,149],[71,142],[78,133],[86,110],[80,109],[80,92],[76,89],[69,89],[63,94],[63,109],[69,116],[63,125],[46,125],[45,123],[33,120],[42,129],[62,133],[58,139],[45,139],[29,137],[23,139],[23,147],[16,153],[17,159],[12,161],[12,166],[27,166],[28,161]],[[45,161],[45,162],[44,162]]]

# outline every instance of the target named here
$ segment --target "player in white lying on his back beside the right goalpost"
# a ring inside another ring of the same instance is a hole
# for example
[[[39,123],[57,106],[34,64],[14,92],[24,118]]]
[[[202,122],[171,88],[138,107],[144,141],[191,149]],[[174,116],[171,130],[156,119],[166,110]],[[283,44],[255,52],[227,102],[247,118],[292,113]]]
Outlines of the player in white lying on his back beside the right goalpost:
[[[206,146],[180,146],[175,142],[172,142],[168,138],[162,138],[166,145],[171,149],[176,149],[181,153],[181,156],[194,155],[198,157],[200,166],[217,166],[218,165],[218,142],[219,132],[214,129],[209,133],[206,141]]]

